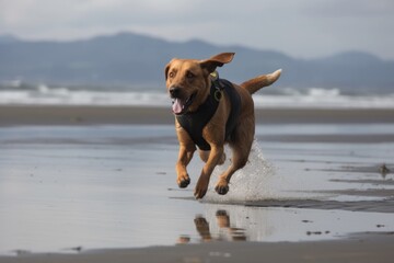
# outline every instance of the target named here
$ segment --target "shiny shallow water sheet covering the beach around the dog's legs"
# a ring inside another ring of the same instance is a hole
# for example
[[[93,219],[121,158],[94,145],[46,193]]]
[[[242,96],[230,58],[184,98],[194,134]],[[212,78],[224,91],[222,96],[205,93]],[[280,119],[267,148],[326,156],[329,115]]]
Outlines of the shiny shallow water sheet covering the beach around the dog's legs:
[[[393,133],[394,125],[383,126],[257,126],[250,163],[234,175],[229,194],[213,192],[216,171],[202,202],[193,199],[202,165],[197,155],[189,165],[189,188],[175,184],[177,142],[172,126],[3,127],[0,253],[205,240],[300,241],[394,231],[394,214],[384,208],[394,196],[393,174],[379,173],[382,163],[394,169],[393,141],[264,139]],[[275,206],[264,203],[267,199]],[[321,203],[300,209],[282,205],[289,199]],[[361,209],[326,209],[325,202],[333,201],[361,202]],[[382,207],[380,213],[362,211],[362,202],[371,201]]]

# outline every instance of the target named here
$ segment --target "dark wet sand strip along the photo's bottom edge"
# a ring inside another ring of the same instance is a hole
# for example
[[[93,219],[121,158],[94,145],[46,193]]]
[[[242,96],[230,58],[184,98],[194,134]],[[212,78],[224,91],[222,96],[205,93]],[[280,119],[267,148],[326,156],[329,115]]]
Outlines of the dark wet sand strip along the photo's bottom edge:
[[[123,249],[79,254],[35,254],[3,258],[1,262],[392,262],[393,235],[366,233],[348,240],[257,243],[209,242],[202,244]]]

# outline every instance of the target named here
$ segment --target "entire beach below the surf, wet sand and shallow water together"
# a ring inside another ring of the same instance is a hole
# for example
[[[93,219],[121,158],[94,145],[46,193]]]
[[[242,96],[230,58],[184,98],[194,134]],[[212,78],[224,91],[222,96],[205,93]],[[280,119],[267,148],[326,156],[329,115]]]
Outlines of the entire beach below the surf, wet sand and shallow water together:
[[[1,105],[0,262],[392,261],[393,108],[257,108],[250,163],[201,202],[198,155],[176,186],[173,123]]]

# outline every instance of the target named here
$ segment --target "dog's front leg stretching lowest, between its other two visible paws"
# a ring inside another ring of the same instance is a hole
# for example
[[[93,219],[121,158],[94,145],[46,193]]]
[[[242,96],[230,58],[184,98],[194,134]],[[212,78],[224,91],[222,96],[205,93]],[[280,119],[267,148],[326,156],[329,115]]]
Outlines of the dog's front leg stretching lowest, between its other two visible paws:
[[[223,156],[223,151],[224,151],[223,146],[211,145],[211,151],[208,161],[202,168],[201,175],[199,176],[195,188],[195,197],[197,199],[200,199],[206,195],[210,175],[212,174],[215,167],[221,160]]]

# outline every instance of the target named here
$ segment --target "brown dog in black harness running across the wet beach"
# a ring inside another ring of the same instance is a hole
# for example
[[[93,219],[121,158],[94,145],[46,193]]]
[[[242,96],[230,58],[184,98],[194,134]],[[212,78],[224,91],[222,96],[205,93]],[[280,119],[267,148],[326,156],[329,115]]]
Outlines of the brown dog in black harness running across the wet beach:
[[[176,162],[177,184],[190,183],[186,171],[196,150],[206,164],[198,179],[195,197],[202,198],[216,165],[225,160],[224,144],[232,149],[232,163],[223,172],[216,191],[229,192],[232,174],[243,168],[255,135],[254,103],[252,95],[263,87],[274,83],[281,73],[277,70],[245,81],[241,85],[212,77],[216,68],[230,62],[234,53],[222,53],[209,59],[172,59],[165,67],[166,88],[173,100],[175,129],[179,141]]]

